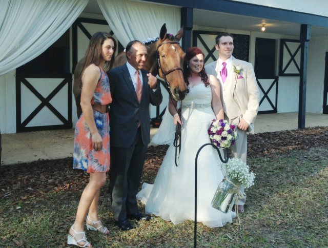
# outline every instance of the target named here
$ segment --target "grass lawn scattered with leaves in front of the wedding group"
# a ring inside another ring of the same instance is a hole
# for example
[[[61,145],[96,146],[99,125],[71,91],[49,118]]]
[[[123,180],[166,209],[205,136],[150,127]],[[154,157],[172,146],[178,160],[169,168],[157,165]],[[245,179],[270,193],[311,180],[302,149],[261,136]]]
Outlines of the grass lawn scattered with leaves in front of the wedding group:
[[[241,224],[210,229],[198,223],[197,246],[328,247],[328,148],[249,158],[248,164],[256,178],[247,191],[245,213],[239,215]],[[153,181],[155,176],[156,170],[145,171],[142,181]],[[101,192],[99,214],[110,233],[86,232],[94,247],[194,246],[192,221],[173,225],[154,217],[135,223],[131,231],[119,231],[113,222],[107,189],[108,182]],[[3,195],[0,247],[68,247],[67,233],[82,190],[74,188],[73,181],[67,187],[55,187],[36,196]],[[144,211],[142,204],[140,209]]]

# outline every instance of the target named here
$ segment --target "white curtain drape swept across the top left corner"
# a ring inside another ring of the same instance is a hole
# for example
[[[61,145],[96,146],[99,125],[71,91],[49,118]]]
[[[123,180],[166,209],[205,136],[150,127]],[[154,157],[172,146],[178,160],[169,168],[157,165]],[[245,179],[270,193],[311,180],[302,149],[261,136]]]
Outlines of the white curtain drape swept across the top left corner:
[[[72,26],[88,2],[89,0],[2,0],[0,75],[42,54]]]

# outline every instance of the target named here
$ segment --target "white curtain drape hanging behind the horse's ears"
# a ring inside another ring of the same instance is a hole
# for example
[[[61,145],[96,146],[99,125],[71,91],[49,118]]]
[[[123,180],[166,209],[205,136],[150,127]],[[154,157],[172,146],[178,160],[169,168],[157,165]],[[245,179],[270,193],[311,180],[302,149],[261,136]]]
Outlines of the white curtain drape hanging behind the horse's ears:
[[[168,33],[175,35],[180,27],[180,8],[131,0],[97,0],[101,12],[122,46],[134,39],[140,41],[159,36],[166,23]]]

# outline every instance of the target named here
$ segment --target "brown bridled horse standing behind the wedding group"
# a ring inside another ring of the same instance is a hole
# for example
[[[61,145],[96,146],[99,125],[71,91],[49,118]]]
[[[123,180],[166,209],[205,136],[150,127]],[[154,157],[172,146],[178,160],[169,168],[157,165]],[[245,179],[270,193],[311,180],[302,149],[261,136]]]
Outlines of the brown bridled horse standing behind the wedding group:
[[[172,97],[175,100],[182,100],[187,93],[187,86],[183,79],[182,64],[185,52],[179,45],[179,40],[183,35],[181,28],[175,36],[167,33],[166,24],[160,29],[159,37],[154,43],[146,43],[147,46],[147,61],[145,69],[153,75],[159,75],[163,78],[170,88]],[[125,64],[127,61],[126,53],[121,52],[115,57],[114,67]],[[83,68],[84,58],[80,59],[74,70],[74,86],[73,93],[76,101],[77,116],[81,114],[79,106],[81,95],[81,84],[78,80]]]

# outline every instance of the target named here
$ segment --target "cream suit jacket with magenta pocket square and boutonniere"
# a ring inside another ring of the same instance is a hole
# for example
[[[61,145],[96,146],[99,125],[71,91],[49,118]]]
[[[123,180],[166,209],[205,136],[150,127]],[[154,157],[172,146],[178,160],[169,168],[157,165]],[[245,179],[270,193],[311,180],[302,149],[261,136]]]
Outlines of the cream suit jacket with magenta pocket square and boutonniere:
[[[217,77],[217,61],[205,66],[208,74]],[[234,66],[240,68],[239,75]],[[254,134],[254,121],[259,108],[259,90],[251,63],[232,57],[232,65],[222,86],[221,99],[224,113],[234,125],[241,117],[250,122],[248,132]]]

